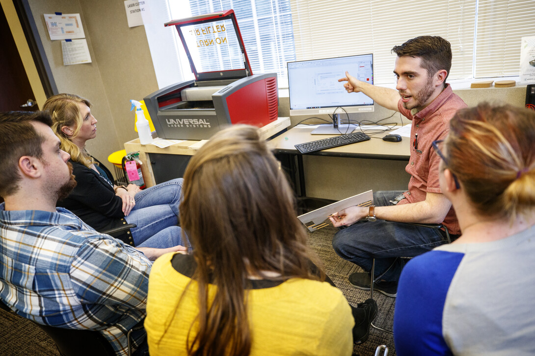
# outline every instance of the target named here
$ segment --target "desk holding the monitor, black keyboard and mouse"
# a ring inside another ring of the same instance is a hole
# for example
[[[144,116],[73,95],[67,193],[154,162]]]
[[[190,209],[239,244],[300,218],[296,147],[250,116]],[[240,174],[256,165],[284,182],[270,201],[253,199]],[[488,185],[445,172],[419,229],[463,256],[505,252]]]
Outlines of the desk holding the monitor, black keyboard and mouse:
[[[305,174],[303,168],[303,155],[295,149],[294,145],[301,144],[309,141],[319,140],[332,135],[310,135],[310,132],[314,130],[315,126],[297,125],[294,128],[282,133],[269,141],[269,145],[274,149],[277,154],[286,154],[292,156],[296,162],[295,169],[290,168],[291,171],[296,170],[298,177],[293,175],[295,187],[299,186],[298,193],[300,196],[307,196],[305,188]],[[387,135],[386,133],[384,135]],[[384,136],[381,135],[380,137]],[[371,159],[371,160],[387,160],[387,161],[400,161],[400,164],[396,165],[395,172],[397,174],[404,175],[404,172],[400,171],[400,168],[404,167],[404,162],[409,161],[410,148],[409,138],[404,137],[400,142],[387,142],[380,138],[372,138],[368,141],[359,142],[356,144],[340,146],[323,151],[307,154],[305,156],[332,156],[332,157],[352,157],[357,159]],[[280,159],[280,157],[279,157]],[[399,166],[399,167],[397,167]],[[381,173],[384,174],[384,173]],[[292,174],[290,174],[292,176]],[[408,178],[408,175],[404,176]],[[397,177],[396,177],[397,178]],[[358,188],[357,188],[358,189]],[[404,188],[401,188],[404,189]],[[368,189],[365,189],[368,190]],[[357,192],[359,192],[357,190]],[[356,193],[355,193],[356,194]],[[348,193],[347,196],[354,195]],[[346,196],[346,197],[347,197]]]

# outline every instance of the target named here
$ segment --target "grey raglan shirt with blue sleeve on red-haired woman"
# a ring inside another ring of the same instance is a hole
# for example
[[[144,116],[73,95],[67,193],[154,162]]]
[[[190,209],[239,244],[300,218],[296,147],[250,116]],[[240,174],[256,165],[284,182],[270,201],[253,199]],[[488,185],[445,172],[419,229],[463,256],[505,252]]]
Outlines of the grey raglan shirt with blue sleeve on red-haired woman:
[[[444,244],[403,268],[399,356],[535,355],[535,225],[507,238]]]

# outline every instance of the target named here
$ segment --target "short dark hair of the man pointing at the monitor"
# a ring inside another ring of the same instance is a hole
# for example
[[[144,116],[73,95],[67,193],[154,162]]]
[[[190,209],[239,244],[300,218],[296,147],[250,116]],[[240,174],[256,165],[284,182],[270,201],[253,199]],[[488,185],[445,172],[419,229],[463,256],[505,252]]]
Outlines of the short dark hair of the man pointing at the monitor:
[[[440,36],[419,36],[409,39],[400,46],[394,46],[392,52],[398,57],[410,56],[422,58],[422,68],[427,70],[429,76],[441,69],[445,69],[444,87],[449,70],[452,68],[452,45]]]

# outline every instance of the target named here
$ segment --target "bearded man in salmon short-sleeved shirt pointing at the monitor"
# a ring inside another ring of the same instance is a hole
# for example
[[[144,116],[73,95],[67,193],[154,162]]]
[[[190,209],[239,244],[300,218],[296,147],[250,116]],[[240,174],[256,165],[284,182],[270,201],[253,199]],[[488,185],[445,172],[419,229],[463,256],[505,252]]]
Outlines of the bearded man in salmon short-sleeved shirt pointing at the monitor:
[[[348,92],[363,92],[385,108],[396,110],[412,121],[408,190],[373,193],[372,207],[349,207],[335,212],[331,221],[340,230],[334,235],[337,254],[362,267],[349,282],[369,290],[375,258],[374,288],[395,297],[404,265],[399,258],[414,257],[447,242],[444,230],[403,223],[443,223],[453,239],[460,229],[452,204],[439,186],[440,157],[432,149],[435,140],[448,135],[449,120],[467,107],[446,84],[452,67],[451,45],[438,36],[420,36],[395,46],[396,90],[357,80],[346,72]],[[355,224],[368,220],[362,224]],[[373,222],[371,222],[373,221]]]

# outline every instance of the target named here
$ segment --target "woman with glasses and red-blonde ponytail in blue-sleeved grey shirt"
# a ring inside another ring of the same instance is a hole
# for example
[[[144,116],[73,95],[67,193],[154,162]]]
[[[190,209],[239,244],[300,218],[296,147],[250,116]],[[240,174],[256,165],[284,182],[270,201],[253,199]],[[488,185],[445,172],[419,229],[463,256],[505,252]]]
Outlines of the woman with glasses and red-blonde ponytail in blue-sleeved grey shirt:
[[[534,355],[535,112],[459,110],[434,147],[462,235],[404,268],[396,353]]]

